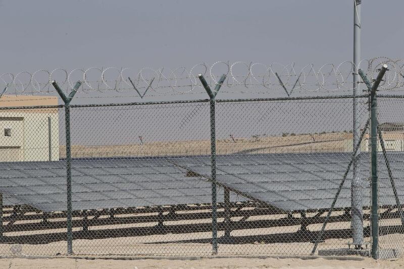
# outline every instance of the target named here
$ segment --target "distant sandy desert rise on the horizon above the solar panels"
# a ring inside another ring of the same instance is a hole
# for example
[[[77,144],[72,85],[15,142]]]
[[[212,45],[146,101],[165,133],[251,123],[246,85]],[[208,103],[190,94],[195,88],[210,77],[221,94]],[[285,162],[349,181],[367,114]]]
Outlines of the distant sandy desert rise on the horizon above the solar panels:
[[[315,141],[313,141],[313,138]],[[350,133],[269,136],[217,140],[218,154],[234,153],[285,153],[285,152],[345,152],[349,151]],[[60,157],[65,157],[65,147],[60,146]],[[72,145],[72,157],[115,156],[167,156],[207,155],[210,141],[166,141],[143,145]]]

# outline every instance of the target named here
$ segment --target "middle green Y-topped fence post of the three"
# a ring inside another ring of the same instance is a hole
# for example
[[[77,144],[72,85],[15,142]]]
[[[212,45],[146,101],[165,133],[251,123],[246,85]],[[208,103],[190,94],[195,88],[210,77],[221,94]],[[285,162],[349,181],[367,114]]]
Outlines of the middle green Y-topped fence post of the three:
[[[206,92],[209,95],[210,104],[210,119],[211,119],[211,179],[212,179],[212,251],[213,254],[218,253],[218,223],[217,223],[217,191],[216,191],[216,95],[218,94],[220,87],[226,75],[222,75],[220,80],[212,91],[206,82],[202,74],[198,75],[198,78],[202,85],[204,86]]]

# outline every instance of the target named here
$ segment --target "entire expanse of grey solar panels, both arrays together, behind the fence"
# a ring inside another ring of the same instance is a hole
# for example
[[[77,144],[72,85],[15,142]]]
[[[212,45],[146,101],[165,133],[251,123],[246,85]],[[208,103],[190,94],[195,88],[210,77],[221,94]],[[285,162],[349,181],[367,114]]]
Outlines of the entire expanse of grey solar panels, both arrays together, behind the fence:
[[[401,154],[401,152],[389,152]],[[286,211],[329,208],[350,161],[350,153],[285,153],[217,156],[217,181],[229,188],[231,201],[262,201]],[[399,198],[404,198],[404,169],[391,158]],[[394,205],[383,156],[379,155],[381,205]],[[191,171],[211,176],[209,156],[77,159],[72,162],[73,210],[197,204],[211,202],[211,184]],[[369,155],[362,153],[364,205],[370,204]],[[350,206],[349,172],[336,203]],[[4,204],[30,204],[43,211],[66,209],[65,162],[0,163]],[[238,194],[238,195],[237,195]],[[223,201],[223,188],[218,201]]]

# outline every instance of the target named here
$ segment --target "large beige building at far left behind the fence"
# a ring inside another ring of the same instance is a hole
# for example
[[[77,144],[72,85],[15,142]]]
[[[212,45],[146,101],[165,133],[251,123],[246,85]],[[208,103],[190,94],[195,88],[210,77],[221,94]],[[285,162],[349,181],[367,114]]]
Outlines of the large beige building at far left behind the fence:
[[[0,98],[0,107],[57,104],[56,96]],[[58,109],[0,110],[0,162],[45,160],[59,160]]]

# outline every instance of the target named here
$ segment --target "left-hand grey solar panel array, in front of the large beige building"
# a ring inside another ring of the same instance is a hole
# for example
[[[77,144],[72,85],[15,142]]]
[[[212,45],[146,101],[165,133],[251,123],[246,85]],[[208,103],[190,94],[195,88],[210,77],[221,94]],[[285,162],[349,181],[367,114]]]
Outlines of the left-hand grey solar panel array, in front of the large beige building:
[[[0,163],[4,204],[66,210],[66,163]],[[232,194],[232,201],[244,200]],[[80,159],[72,162],[73,210],[211,203],[211,184],[186,177],[165,159]],[[218,194],[223,201],[223,189]]]

